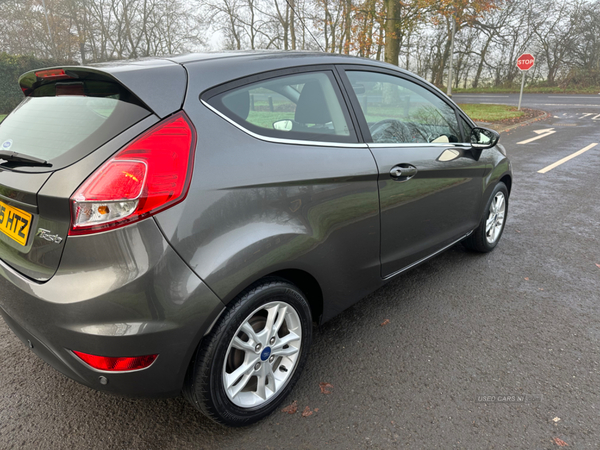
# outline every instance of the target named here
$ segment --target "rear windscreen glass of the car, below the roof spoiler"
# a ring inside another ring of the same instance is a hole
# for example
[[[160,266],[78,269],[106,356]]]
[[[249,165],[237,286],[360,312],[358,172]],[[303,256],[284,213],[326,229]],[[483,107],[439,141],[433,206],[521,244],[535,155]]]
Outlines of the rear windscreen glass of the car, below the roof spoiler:
[[[90,154],[148,115],[141,102],[115,83],[44,85],[0,123],[0,150],[48,161],[51,170],[56,170]]]

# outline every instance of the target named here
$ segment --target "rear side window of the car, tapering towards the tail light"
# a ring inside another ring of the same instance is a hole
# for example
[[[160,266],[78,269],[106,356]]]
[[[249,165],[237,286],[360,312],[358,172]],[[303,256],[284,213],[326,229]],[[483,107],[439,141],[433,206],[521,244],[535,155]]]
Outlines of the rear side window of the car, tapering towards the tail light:
[[[356,142],[330,72],[270,78],[208,101],[244,128],[277,138]]]

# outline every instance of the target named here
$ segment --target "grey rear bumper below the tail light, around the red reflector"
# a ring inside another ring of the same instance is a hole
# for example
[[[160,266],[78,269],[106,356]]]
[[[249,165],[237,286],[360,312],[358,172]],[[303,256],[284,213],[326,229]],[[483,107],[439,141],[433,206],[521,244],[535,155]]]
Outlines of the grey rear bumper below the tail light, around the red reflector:
[[[177,395],[200,339],[223,308],[153,219],[69,237],[46,283],[0,261],[0,314],[15,334],[68,377],[116,394]],[[116,373],[91,368],[72,350],[159,356],[147,369]]]

